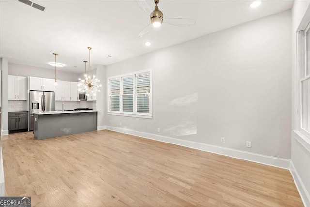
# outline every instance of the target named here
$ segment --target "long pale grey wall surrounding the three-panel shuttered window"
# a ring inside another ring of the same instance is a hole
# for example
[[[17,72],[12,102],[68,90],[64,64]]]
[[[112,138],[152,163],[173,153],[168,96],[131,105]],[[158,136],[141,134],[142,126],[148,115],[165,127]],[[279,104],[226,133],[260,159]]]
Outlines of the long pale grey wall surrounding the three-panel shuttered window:
[[[152,68],[153,119],[106,124],[290,159],[290,65],[290,11],[108,65],[107,77]]]

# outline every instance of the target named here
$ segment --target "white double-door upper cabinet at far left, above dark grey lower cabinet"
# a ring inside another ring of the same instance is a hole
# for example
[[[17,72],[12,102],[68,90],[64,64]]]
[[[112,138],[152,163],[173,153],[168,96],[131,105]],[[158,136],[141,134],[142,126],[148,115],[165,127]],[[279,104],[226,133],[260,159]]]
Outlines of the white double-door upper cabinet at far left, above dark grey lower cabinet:
[[[8,75],[8,100],[27,100],[27,77]]]

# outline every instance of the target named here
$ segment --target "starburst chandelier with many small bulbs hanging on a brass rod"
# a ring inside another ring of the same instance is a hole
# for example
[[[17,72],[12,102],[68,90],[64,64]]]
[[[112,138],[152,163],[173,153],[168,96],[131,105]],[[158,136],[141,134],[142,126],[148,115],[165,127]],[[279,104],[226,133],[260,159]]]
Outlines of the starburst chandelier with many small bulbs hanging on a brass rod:
[[[86,63],[87,61],[83,61],[85,63],[85,74],[84,77],[85,79],[78,79],[80,81],[80,83],[78,84],[79,86],[79,91],[82,91],[84,93],[86,93],[86,96],[89,96],[90,94],[92,94],[93,96],[96,96],[97,92],[100,92],[99,88],[102,86],[101,84],[99,84],[100,80],[98,80],[96,78],[95,75],[93,75],[92,78],[92,72],[91,72],[91,47],[87,47],[89,50],[89,75],[87,76],[86,73]]]

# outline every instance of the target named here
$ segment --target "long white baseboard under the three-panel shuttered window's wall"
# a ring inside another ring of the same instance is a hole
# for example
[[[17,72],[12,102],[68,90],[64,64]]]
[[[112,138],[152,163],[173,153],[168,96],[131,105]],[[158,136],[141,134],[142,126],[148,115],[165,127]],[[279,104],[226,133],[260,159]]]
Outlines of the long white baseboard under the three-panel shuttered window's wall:
[[[257,153],[251,153],[251,152],[246,152],[246,151],[241,151],[241,150],[236,150],[236,149],[231,149],[231,148],[226,148],[226,147],[220,147],[220,146],[210,145],[210,144],[205,144],[205,143],[192,142],[188,140],[182,140],[182,139],[177,139],[177,138],[172,138],[172,137],[166,137],[166,136],[161,136],[161,135],[156,135],[156,134],[134,131],[134,130],[125,129],[125,128],[105,126],[105,129],[121,132],[124,134],[135,135],[135,136],[139,136],[139,137],[143,137],[147,139],[152,139],[152,140],[156,140],[160,142],[185,146],[185,147],[198,149],[198,150],[202,150],[206,152],[212,152],[212,153],[225,155],[225,156],[229,156],[233,158],[244,159],[244,160],[257,162],[257,163],[261,163],[265,165],[270,165],[274,167],[279,167],[279,168],[284,168],[284,169],[290,168],[291,160],[289,159],[276,158],[276,157],[261,155]]]

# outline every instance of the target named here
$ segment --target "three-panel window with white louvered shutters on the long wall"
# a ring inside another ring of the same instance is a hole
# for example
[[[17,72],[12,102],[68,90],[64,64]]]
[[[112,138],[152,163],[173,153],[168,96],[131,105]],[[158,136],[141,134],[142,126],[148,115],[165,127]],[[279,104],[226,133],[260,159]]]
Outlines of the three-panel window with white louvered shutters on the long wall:
[[[109,111],[113,115],[152,118],[150,70],[109,79]]]

